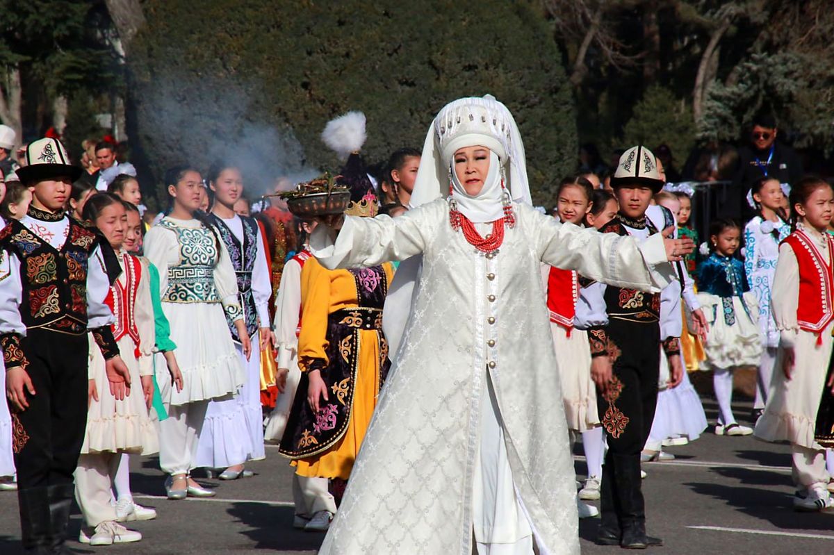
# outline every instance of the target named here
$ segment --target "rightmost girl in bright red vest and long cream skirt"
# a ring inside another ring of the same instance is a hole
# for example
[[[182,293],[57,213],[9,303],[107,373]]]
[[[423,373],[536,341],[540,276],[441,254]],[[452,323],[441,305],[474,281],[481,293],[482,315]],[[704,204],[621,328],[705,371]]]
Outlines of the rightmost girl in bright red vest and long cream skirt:
[[[803,178],[791,188],[791,223],[796,231],[779,247],[779,262],[773,278],[773,316],[779,329],[765,412],[756,423],[756,438],[791,443],[793,500],[799,511],[819,511],[834,505],[828,493],[826,438],[815,437],[817,410],[831,360],[834,329],[834,237],[826,233],[831,222],[834,193],[819,178]],[[800,301],[801,299],[801,301]]]

